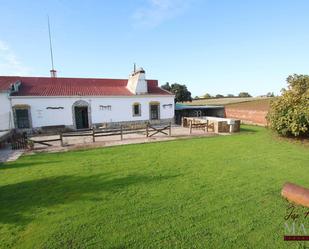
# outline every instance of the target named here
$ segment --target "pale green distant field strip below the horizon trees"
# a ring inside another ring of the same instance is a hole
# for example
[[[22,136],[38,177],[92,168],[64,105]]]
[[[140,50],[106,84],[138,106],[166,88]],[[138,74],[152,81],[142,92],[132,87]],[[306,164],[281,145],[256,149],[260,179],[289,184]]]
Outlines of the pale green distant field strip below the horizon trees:
[[[269,101],[270,98],[266,97],[251,97],[251,98],[219,98],[219,99],[199,99],[199,100],[193,100],[192,102],[186,102],[188,105],[228,105],[228,104],[234,104],[234,103],[241,103],[249,101],[261,101],[261,100],[267,100]]]

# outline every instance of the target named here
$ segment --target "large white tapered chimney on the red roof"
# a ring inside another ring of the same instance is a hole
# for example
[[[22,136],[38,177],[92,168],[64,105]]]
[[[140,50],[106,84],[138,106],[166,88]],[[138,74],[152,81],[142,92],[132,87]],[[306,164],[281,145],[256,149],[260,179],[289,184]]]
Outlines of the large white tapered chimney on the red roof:
[[[134,72],[129,76],[127,88],[134,94],[148,93],[145,70],[142,67],[134,69]]]

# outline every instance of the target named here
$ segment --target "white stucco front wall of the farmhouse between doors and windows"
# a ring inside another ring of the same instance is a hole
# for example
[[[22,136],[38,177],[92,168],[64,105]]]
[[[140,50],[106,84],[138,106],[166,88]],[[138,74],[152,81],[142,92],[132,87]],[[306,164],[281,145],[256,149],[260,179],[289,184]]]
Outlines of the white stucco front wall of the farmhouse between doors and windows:
[[[74,126],[72,105],[84,100],[91,106],[91,123],[149,120],[149,103],[160,103],[160,119],[174,118],[173,96],[130,96],[130,97],[12,97],[12,106],[29,105],[33,127],[66,125]],[[134,117],[133,103],[141,104],[141,116]],[[164,108],[163,105],[172,104]],[[102,110],[102,106],[111,106],[111,110]],[[47,109],[63,107],[64,109]]]

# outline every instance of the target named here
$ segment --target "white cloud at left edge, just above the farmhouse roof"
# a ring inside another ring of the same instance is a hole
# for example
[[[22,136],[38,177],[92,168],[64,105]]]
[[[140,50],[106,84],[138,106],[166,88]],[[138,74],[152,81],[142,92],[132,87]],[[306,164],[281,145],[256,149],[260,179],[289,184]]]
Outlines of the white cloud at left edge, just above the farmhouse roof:
[[[0,40],[0,75],[29,75],[30,68],[22,65],[14,51]]]

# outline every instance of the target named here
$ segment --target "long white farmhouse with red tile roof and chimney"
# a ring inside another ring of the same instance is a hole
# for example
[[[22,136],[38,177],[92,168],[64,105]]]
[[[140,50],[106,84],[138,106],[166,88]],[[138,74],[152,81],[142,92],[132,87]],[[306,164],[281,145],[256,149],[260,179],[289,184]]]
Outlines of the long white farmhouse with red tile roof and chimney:
[[[0,76],[0,131],[174,120],[174,95],[135,70],[129,79]]]

